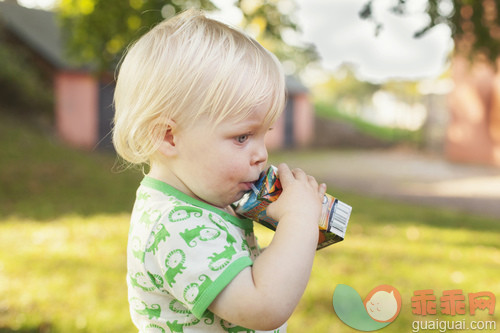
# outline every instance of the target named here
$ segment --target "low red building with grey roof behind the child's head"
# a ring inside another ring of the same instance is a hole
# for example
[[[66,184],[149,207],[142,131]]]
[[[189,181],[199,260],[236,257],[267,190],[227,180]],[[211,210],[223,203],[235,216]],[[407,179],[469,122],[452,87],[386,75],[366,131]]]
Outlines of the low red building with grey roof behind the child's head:
[[[113,82],[103,82],[91,68],[75,66],[65,57],[56,14],[0,2],[0,29],[9,42],[26,48],[54,82],[55,126],[71,146],[92,150],[111,148]],[[270,149],[306,146],[313,139],[314,110],[308,91],[287,78],[288,103],[269,136]]]

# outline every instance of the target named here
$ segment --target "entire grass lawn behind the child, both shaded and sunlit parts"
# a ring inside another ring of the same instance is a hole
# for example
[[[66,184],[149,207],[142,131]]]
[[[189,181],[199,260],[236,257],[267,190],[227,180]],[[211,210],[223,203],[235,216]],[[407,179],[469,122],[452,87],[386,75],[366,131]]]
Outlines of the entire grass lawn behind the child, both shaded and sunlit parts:
[[[141,173],[118,173],[110,154],[65,148],[2,114],[0,145],[0,332],[135,332],[125,248]],[[346,239],[318,251],[289,332],[355,332],[332,309],[341,283],[362,298],[381,284],[399,290],[403,307],[386,332],[411,332],[413,321],[437,318],[500,327],[498,304],[494,316],[422,317],[411,307],[421,289],[438,300],[452,289],[499,297],[499,221],[336,195],[354,207]],[[264,243],[272,237],[257,232]]]

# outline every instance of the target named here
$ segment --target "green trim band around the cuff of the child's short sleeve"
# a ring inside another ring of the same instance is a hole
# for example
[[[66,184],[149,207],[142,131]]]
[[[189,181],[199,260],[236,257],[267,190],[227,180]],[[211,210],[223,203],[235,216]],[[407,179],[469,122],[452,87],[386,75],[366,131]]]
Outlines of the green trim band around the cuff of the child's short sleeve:
[[[213,300],[244,268],[252,266],[252,259],[249,257],[241,257],[236,259],[229,265],[224,272],[205,290],[198,302],[193,307],[192,313],[198,319],[203,317],[207,308],[212,304]]]

